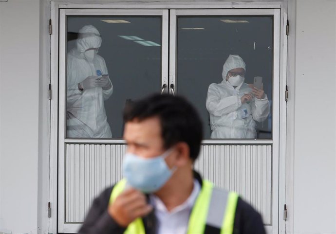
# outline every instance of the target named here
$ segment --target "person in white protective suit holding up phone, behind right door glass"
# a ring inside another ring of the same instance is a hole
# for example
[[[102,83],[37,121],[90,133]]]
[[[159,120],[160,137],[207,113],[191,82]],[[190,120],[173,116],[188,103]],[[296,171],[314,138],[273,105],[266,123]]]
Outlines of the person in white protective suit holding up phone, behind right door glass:
[[[220,84],[211,84],[206,97],[211,138],[257,137],[256,122],[269,114],[269,102],[262,89],[244,83],[246,66],[239,55],[226,59]]]

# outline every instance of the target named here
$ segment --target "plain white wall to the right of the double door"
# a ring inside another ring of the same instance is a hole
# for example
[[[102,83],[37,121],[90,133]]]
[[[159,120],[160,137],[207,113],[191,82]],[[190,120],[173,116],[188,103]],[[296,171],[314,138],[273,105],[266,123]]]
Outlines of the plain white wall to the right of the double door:
[[[297,0],[296,20],[293,231],[335,234],[336,1]]]

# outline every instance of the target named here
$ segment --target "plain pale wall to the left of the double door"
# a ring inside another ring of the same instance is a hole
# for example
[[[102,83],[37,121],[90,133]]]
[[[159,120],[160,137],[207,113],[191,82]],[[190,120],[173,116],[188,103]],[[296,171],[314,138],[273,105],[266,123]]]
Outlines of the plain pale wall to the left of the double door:
[[[0,232],[37,233],[39,0],[0,2]]]

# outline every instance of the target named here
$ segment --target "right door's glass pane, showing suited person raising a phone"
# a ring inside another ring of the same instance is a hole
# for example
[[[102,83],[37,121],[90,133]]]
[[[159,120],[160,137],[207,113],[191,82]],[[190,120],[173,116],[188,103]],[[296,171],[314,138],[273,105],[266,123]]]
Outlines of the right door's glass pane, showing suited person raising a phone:
[[[272,139],[273,16],[178,17],[176,78],[205,139]]]

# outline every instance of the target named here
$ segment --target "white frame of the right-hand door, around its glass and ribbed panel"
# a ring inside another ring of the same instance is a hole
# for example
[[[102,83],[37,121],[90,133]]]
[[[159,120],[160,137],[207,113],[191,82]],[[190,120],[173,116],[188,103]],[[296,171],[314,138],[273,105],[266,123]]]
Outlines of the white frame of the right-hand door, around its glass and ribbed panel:
[[[272,177],[273,175],[279,175],[279,160],[280,160],[280,9],[177,9],[170,10],[170,50],[169,50],[169,85],[173,84],[176,87],[176,17],[178,16],[274,16],[274,34],[273,34],[273,97],[272,97],[272,139],[270,140],[203,140],[202,144],[272,144],[273,147],[273,163],[272,163]],[[278,233],[278,220],[280,212],[280,198],[277,196],[280,194],[279,179],[272,178],[272,225],[265,225],[265,229],[268,234]],[[276,230],[276,232],[275,232]],[[272,232],[273,231],[273,232]]]

